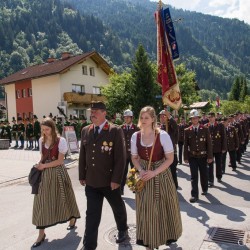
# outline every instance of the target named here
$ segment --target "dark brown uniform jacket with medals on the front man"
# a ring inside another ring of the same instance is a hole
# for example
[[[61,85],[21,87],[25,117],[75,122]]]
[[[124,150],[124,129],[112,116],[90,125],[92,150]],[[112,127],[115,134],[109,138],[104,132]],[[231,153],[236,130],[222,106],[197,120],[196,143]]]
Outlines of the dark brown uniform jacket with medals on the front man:
[[[79,180],[98,188],[120,184],[126,164],[125,138],[120,127],[106,122],[94,138],[94,125],[82,130],[79,155]]]

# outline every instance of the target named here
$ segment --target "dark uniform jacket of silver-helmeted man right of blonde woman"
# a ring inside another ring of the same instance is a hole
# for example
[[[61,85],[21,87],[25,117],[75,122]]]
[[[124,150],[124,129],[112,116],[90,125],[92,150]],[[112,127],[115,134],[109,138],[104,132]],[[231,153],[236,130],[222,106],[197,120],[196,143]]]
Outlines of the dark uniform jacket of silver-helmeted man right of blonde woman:
[[[213,158],[212,140],[208,128],[199,125],[197,135],[194,132],[194,127],[185,129],[184,141],[184,160],[188,161],[190,157],[207,159]]]

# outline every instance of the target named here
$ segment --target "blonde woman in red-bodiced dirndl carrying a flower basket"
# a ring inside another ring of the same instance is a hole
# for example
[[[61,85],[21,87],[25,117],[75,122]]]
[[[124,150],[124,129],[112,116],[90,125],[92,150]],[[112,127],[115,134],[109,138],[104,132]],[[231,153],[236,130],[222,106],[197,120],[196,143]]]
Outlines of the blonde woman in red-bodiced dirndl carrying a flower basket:
[[[154,249],[176,242],[182,234],[179,201],[169,169],[174,149],[168,133],[157,127],[154,108],[141,110],[138,126],[141,130],[131,138],[131,155],[145,186],[136,193],[136,239],[138,245]]]

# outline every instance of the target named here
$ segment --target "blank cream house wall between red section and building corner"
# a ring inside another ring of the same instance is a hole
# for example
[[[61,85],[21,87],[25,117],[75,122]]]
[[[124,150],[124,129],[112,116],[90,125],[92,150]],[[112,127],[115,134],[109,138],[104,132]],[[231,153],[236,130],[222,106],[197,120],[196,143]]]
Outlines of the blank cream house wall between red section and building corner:
[[[61,101],[59,75],[47,76],[32,80],[33,112],[39,120],[43,115],[59,114],[57,106]]]

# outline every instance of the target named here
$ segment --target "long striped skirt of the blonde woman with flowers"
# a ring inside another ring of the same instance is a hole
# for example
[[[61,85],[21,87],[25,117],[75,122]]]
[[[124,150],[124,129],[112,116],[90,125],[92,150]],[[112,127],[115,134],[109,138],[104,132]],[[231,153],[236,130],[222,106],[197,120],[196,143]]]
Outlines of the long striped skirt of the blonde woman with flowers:
[[[151,163],[151,170],[164,160]],[[148,161],[141,161],[144,169]],[[175,184],[168,168],[146,182],[144,189],[136,193],[137,244],[150,249],[177,240],[182,233],[182,223]]]

